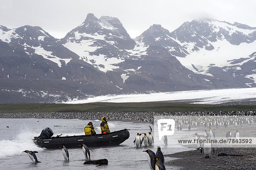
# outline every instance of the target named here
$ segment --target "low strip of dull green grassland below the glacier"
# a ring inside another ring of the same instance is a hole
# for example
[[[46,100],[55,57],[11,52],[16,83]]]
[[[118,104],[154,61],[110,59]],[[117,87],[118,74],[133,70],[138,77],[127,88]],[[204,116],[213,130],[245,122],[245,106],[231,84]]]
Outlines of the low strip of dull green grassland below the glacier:
[[[170,102],[86,103],[86,104],[0,104],[0,113],[19,112],[185,112],[185,111],[256,111],[256,105],[200,105]]]

